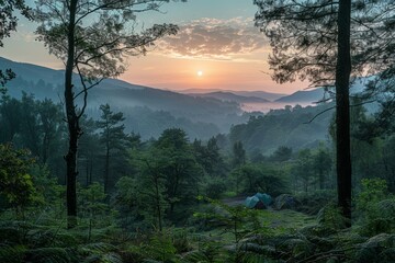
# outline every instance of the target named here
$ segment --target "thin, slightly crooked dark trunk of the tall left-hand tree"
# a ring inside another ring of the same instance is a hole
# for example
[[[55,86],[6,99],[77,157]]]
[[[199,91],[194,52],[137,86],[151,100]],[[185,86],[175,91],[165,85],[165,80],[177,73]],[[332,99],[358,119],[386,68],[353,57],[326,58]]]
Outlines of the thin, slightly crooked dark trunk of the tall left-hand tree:
[[[70,1],[70,16],[68,24],[68,50],[65,72],[65,104],[67,114],[67,124],[69,132],[69,148],[66,159],[67,164],[67,228],[77,226],[77,149],[78,138],[80,136],[79,119],[76,113],[76,105],[72,91],[72,69],[75,65],[75,21],[76,21],[77,0]]]

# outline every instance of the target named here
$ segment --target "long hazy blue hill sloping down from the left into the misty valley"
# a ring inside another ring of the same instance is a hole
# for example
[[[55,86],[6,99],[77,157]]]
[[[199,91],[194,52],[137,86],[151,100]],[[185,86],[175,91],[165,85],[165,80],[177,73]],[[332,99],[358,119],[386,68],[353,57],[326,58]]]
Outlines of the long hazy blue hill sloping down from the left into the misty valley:
[[[8,93],[10,95],[21,98],[22,91],[24,91],[34,94],[36,99],[48,98],[55,102],[63,100],[63,70],[54,70],[0,58],[0,69],[5,68],[12,68],[18,76],[8,83]],[[76,82],[76,85],[78,85],[77,83],[78,82]],[[165,116],[165,113],[168,113],[170,116],[166,116],[168,121],[162,125],[157,125],[160,123],[158,118],[156,118],[156,123],[146,119],[146,123],[150,123],[153,130],[142,136],[148,138],[149,136],[157,135],[157,129],[159,128],[182,126],[188,129],[188,125],[196,126],[195,124],[199,124],[201,127],[204,127],[204,125],[210,126],[210,129],[203,130],[204,137],[206,138],[217,133],[226,133],[233,124],[246,121],[246,117],[241,116],[242,111],[239,104],[236,102],[225,102],[213,98],[190,96],[171,91],[135,85],[116,79],[104,80],[89,91],[88,112],[95,113],[99,105],[105,103],[109,103],[116,111],[124,112],[125,116],[135,116],[133,113],[134,110],[146,108],[144,111],[138,110],[139,113],[146,113],[146,115],[139,116],[142,119],[148,118],[149,116]],[[155,115],[156,112],[159,114]],[[171,119],[171,122],[169,119]],[[128,129],[135,130],[136,127],[132,127],[131,125]],[[147,130],[149,130],[149,127],[145,126],[145,132]],[[208,135],[207,130],[212,130],[213,134]],[[138,133],[140,130],[135,132]]]

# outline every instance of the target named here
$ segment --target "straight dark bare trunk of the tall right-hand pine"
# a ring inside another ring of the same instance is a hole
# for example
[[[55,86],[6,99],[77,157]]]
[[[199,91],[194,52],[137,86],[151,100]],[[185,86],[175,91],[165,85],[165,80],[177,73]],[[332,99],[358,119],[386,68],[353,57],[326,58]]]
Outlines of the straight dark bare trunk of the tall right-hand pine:
[[[351,155],[350,155],[350,55],[351,0],[340,0],[338,13],[338,57],[336,66],[336,171],[338,205],[351,226]]]

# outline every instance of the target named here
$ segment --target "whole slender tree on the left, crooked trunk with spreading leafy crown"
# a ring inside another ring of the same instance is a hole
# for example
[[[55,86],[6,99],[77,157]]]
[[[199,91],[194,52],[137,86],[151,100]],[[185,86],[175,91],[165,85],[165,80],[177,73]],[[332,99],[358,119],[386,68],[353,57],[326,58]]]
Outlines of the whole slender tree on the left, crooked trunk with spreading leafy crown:
[[[49,53],[64,61],[66,69],[68,228],[77,225],[77,151],[82,135],[79,121],[87,107],[88,91],[103,79],[124,72],[125,55],[146,54],[156,39],[177,33],[177,26],[172,24],[134,30],[137,13],[158,11],[165,2],[168,0],[37,1],[35,16],[41,23],[36,30],[38,41],[44,42]],[[78,84],[75,78],[79,79]]]

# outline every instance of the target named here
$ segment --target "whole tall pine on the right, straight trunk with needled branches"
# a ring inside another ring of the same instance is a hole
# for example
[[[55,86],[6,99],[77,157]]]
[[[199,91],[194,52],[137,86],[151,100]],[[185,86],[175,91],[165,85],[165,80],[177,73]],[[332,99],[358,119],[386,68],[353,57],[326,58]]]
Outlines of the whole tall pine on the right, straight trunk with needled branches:
[[[350,0],[255,0],[255,4],[259,8],[256,25],[273,47],[270,66],[274,80],[283,83],[308,79],[313,87],[326,90],[335,81],[338,203],[342,215],[351,219],[349,87],[350,76],[360,72],[363,64],[359,59],[351,65],[351,28],[360,34],[351,24],[351,12],[358,20],[371,7],[352,5]],[[358,38],[352,39],[356,46],[360,46]],[[352,52],[354,57],[359,54]]]

